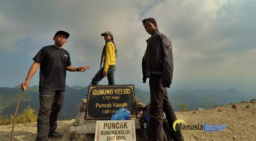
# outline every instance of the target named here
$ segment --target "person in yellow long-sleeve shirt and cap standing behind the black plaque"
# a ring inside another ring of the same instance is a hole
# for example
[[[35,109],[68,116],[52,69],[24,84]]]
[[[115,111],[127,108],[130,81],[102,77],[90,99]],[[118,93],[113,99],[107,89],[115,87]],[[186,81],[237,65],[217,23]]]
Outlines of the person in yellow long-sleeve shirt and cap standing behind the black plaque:
[[[100,70],[92,78],[92,85],[98,85],[98,82],[104,77],[108,77],[108,85],[114,85],[114,71],[116,70],[116,57],[117,50],[114,43],[113,34],[110,31],[106,31],[101,34],[104,36],[106,44],[103,47],[101,61],[100,61]],[[103,60],[104,58],[104,60]],[[103,67],[102,66],[103,64]]]

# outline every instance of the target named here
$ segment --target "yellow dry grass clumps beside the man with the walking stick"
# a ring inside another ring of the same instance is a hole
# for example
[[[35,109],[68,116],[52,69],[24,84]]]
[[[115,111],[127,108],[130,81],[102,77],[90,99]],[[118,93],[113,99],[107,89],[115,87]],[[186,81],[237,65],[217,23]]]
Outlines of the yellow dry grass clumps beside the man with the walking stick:
[[[13,123],[14,116],[10,115],[10,118],[1,116],[2,108],[0,108],[0,125],[9,125]],[[24,109],[21,114],[18,114],[15,119],[15,124],[34,123],[37,121],[37,113],[30,106]]]

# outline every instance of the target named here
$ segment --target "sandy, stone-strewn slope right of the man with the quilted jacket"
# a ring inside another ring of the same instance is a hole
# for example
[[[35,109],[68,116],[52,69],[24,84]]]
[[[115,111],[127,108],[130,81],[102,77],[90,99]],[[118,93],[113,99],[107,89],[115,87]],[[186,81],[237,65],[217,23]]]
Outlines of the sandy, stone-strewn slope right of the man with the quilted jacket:
[[[204,122],[226,125],[226,130],[217,132],[182,131],[185,141],[256,141],[256,103],[235,103],[206,110],[177,112],[176,115],[189,125]]]

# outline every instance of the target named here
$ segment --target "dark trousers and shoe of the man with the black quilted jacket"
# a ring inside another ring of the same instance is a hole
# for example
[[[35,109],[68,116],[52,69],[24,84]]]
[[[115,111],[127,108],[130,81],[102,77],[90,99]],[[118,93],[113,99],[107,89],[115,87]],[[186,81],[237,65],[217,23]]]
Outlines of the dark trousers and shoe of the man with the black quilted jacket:
[[[162,85],[162,75],[151,74],[149,78],[150,87],[150,126],[148,129],[148,141],[163,140],[163,112],[166,115],[167,121],[172,129],[174,121],[177,120],[172,104],[167,95],[166,88]],[[176,132],[177,131],[177,132]],[[171,137],[174,141],[183,141],[184,137],[180,130],[171,132]]]

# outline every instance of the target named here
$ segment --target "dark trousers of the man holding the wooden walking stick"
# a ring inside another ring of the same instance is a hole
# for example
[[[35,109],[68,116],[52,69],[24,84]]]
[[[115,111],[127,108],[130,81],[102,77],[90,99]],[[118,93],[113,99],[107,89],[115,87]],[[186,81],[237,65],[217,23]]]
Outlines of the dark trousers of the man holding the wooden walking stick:
[[[48,134],[54,133],[64,96],[65,90],[40,92],[36,141],[46,141]]]

